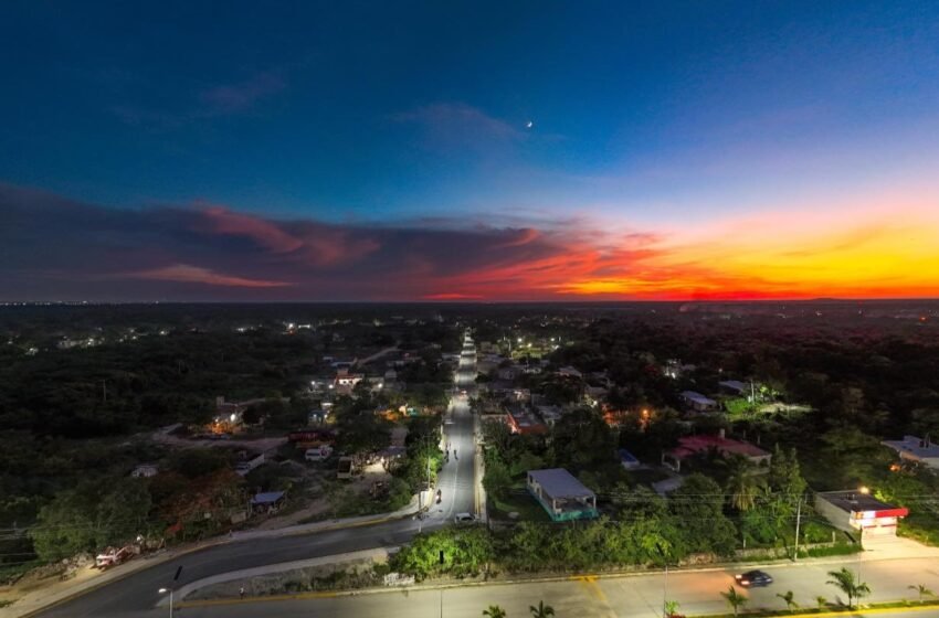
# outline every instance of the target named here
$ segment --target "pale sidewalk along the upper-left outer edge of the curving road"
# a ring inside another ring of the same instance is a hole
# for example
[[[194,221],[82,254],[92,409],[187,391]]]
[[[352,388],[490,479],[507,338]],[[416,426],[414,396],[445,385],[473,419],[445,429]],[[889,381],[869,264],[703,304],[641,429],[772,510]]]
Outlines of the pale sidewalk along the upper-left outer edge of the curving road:
[[[379,513],[374,515],[363,515],[342,520],[327,520],[309,524],[282,528],[278,530],[252,530],[246,532],[236,532],[230,536],[218,536],[192,545],[173,547],[172,550],[149,554],[104,572],[83,569],[81,574],[73,579],[65,582],[53,580],[50,582],[48,586],[29,590],[24,595],[18,597],[13,605],[0,608],[0,617],[23,618],[31,616],[51,606],[59,605],[71,598],[128,577],[138,571],[143,571],[208,547],[240,543],[244,541],[256,541],[257,539],[297,536],[303,534],[314,534],[317,532],[327,532],[330,530],[380,524],[388,521],[409,518],[416,512],[418,500],[416,498],[412,498],[410,504],[392,513]]]

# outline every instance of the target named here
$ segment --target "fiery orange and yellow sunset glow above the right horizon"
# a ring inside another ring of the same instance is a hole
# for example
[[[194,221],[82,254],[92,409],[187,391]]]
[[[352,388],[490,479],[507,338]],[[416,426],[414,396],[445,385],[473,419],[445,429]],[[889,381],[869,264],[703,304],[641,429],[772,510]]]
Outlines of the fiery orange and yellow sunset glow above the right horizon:
[[[939,206],[921,203],[768,213],[619,245],[582,236],[548,257],[441,281],[439,298],[939,297]]]

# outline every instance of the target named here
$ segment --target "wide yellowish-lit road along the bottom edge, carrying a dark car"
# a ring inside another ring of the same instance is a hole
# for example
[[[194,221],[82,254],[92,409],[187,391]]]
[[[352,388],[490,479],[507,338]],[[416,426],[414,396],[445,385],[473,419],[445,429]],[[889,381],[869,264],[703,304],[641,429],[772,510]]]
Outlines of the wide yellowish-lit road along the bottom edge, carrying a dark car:
[[[844,565],[856,568],[857,562]],[[749,590],[748,609],[782,609],[785,604],[777,593],[793,590],[795,600],[805,608],[815,607],[814,597],[830,601],[840,594],[825,582],[826,573],[838,564],[800,563],[766,568],[776,579],[772,586]],[[936,558],[865,561],[861,577],[873,590],[869,600],[915,599],[907,589],[910,584],[925,584],[939,589],[939,562]],[[682,604],[682,612],[720,614],[729,611],[720,597],[732,579],[730,571],[683,572],[668,576],[669,599]],[[571,579],[566,582],[516,585],[488,585],[447,590],[391,592],[354,597],[296,599],[279,601],[245,601],[214,607],[187,607],[188,618],[247,618],[277,616],[300,618],[329,616],[335,618],[478,618],[490,604],[502,606],[509,616],[528,616],[528,606],[544,600],[559,618],[657,618],[665,596],[663,574],[636,575],[606,579]],[[443,609],[441,610],[441,604]],[[939,610],[920,611],[909,616],[939,618]]]

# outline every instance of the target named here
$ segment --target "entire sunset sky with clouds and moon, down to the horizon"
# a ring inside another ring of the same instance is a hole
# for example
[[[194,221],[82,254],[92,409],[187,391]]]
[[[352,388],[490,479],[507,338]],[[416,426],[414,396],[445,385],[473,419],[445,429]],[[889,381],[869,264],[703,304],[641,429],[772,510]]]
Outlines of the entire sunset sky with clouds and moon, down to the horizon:
[[[7,2],[0,300],[939,297],[939,3]]]

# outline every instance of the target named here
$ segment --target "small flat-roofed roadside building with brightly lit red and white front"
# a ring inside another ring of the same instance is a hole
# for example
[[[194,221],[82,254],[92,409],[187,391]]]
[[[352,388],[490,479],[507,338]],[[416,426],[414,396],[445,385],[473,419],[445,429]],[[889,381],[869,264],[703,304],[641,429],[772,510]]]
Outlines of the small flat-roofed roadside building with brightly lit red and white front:
[[[859,533],[862,546],[895,540],[897,523],[909,514],[908,509],[880,502],[865,488],[819,492],[815,494],[815,511],[838,530]]]

